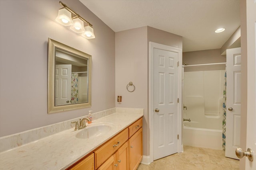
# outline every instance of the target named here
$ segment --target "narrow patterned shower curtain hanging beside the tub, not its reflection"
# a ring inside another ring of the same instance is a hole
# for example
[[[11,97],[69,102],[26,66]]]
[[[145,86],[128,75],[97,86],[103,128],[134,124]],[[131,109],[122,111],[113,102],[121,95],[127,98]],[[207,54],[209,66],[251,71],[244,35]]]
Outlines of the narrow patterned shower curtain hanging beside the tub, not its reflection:
[[[226,147],[226,86],[227,86],[227,71],[224,75],[224,90],[223,90],[223,119],[222,119],[222,148],[225,150]]]

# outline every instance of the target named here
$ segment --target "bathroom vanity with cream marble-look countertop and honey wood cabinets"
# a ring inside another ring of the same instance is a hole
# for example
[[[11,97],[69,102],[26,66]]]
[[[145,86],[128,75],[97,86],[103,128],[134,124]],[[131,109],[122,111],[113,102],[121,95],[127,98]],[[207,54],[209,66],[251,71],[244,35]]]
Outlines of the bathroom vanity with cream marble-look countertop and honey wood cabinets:
[[[113,108],[99,112],[98,116],[97,113],[93,114],[92,123],[86,123],[87,127],[78,131],[74,131],[71,121],[79,120],[80,117],[1,137],[1,147],[9,144],[20,146],[7,147],[0,153],[0,169],[136,169],[142,160],[143,109]],[[52,133],[66,125],[69,126],[67,130],[20,144],[20,141],[35,139],[35,135],[43,136],[43,133]],[[88,136],[84,136],[83,131],[93,130],[94,127],[103,127],[100,130],[102,133],[86,133]],[[105,131],[105,127],[111,128]]]

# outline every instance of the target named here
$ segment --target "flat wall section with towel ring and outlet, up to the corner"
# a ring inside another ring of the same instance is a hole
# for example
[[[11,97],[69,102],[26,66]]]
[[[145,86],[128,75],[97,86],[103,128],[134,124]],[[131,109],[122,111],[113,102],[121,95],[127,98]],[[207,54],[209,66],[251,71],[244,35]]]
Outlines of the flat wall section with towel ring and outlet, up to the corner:
[[[143,155],[148,154],[147,54],[146,26],[116,33],[116,107],[144,109]],[[126,86],[129,82],[133,82],[136,87],[134,92],[127,91]],[[122,96],[121,104],[117,103],[117,96]]]

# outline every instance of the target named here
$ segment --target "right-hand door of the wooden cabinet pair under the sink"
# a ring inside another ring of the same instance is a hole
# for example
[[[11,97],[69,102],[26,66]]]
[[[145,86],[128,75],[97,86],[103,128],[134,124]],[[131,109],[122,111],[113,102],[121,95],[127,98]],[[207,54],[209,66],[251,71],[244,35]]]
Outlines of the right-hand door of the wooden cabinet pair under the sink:
[[[117,170],[129,169],[129,147],[128,141],[116,152]]]

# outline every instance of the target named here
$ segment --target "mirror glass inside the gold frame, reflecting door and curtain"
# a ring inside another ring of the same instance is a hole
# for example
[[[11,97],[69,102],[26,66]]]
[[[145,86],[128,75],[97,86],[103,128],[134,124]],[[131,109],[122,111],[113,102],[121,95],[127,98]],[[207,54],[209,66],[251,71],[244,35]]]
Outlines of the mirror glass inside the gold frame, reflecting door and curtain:
[[[56,47],[55,106],[88,102],[88,59]]]

